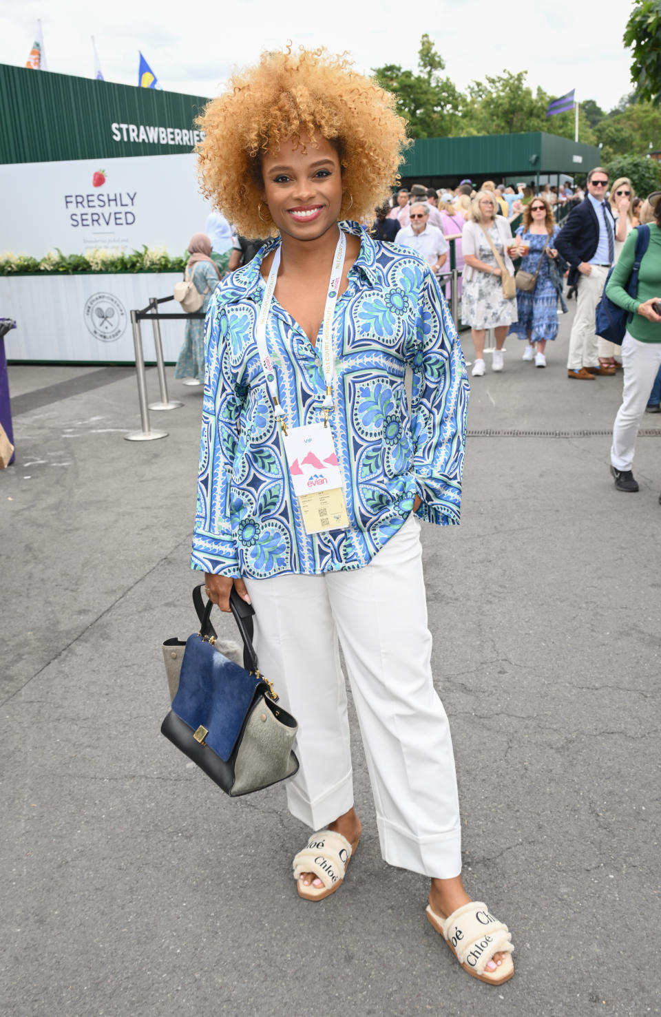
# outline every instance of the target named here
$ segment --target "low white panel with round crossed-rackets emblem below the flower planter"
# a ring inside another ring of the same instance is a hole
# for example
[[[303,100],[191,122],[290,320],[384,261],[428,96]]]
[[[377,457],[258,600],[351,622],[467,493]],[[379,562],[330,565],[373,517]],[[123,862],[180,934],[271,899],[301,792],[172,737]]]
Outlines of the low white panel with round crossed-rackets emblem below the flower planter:
[[[16,322],[5,337],[7,359],[132,363],[131,311],[147,307],[149,297],[170,296],[180,280],[178,273],[0,276],[2,315]],[[181,305],[172,300],[160,310],[176,314]],[[167,361],[177,359],[185,325],[161,321]],[[141,335],[144,359],[154,361],[149,321],[141,322]]]

